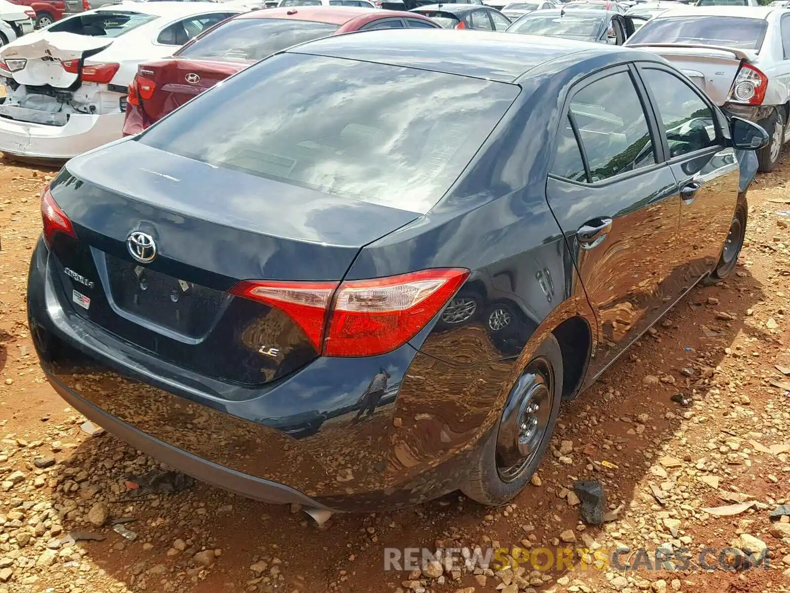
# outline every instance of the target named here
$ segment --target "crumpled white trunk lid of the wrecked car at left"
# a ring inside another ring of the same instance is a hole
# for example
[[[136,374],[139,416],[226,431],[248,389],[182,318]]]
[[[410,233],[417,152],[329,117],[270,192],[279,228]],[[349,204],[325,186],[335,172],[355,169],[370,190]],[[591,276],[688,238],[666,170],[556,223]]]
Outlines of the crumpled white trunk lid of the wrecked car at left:
[[[66,32],[44,32],[24,37],[17,43],[0,51],[0,59],[6,62],[10,74],[20,85],[49,85],[55,89],[71,89],[80,78],[82,60],[96,55],[112,44],[106,37],[76,35]],[[14,64],[14,60],[18,60]],[[21,62],[24,60],[24,62]],[[67,71],[62,62],[80,62],[79,68]]]

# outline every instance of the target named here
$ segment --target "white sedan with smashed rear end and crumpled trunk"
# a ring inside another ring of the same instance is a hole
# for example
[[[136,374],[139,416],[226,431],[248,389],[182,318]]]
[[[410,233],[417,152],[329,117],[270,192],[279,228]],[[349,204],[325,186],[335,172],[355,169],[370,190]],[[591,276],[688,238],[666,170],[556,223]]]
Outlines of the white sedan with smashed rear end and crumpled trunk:
[[[62,160],[121,138],[137,65],[243,9],[130,2],[67,17],[0,49],[0,152]]]

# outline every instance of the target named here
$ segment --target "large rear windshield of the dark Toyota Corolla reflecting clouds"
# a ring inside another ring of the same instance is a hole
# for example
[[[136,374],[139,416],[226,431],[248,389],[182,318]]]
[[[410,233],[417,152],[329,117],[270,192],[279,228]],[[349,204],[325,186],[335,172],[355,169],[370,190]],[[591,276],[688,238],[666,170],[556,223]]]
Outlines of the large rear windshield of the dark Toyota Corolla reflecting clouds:
[[[137,142],[216,167],[426,213],[518,87],[351,59],[274,55]]]

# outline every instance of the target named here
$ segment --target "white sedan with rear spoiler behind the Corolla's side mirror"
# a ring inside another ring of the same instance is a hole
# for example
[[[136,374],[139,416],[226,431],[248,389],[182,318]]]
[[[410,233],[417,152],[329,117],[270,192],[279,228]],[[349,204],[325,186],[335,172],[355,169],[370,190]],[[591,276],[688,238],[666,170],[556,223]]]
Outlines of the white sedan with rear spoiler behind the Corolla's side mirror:
[[[790,9],[686,6],[656,15],[626,41],[661,55],[724,112],[759,123],[771,138],[760,171],[790,139]]]

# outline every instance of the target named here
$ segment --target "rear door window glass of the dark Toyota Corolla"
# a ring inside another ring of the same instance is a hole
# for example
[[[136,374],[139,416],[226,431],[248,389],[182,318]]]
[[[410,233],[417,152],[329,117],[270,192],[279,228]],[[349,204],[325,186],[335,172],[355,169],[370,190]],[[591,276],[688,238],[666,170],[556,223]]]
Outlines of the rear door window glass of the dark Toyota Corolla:
[[[570,103],[592,182],[656,163],[645,111],[627,72],[610,74]]]

